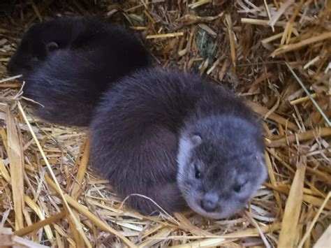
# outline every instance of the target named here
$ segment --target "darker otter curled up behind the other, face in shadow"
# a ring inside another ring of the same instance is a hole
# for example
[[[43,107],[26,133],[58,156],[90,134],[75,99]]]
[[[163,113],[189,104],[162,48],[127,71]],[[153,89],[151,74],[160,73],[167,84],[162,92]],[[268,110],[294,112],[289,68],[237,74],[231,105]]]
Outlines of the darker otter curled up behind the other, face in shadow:
[[[101,93],[118,78],[150,66],[152,59],[131,31],[90,17],[34,24],[8,63],[23,74],[23,96],[41,118],[88,126]]]

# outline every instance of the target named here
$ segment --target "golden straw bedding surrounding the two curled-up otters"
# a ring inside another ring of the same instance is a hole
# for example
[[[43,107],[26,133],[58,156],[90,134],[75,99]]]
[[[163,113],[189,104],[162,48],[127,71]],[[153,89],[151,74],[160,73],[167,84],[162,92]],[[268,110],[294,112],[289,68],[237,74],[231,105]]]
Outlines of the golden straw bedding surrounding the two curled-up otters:
[[[49,0],[0,7],[1,245],[330,245],[330,1]],[[245,211],[211,220],[191,211],[145,217],[128,210],[89,170],[87,131],[33,115],[6,62],[26,27],[58,13],[99,15],[135,29],[157,64],[208,75],[244,97],[264,121],[269,173]]]

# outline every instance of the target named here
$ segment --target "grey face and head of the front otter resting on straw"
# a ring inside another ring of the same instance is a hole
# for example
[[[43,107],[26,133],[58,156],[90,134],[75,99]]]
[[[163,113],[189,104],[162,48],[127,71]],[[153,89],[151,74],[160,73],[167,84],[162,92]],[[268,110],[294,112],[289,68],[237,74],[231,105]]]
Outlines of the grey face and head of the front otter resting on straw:
[[[213,219],[240,212],[267,177],[259,124],[232,115],[187,125],[177,163],[186,203]]]

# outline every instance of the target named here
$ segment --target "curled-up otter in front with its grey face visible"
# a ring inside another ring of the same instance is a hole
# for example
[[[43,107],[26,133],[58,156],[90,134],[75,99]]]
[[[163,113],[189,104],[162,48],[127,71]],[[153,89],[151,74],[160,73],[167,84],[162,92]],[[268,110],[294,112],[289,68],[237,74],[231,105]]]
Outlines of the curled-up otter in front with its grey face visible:
[[[136,71],[103,95],[91,125],[91,163],[123,198],[142,194],[172,213],[242,210],[266,178],[263,131],[240,99],[197,75]],[[159,208],[140,196],[128,206]]]

